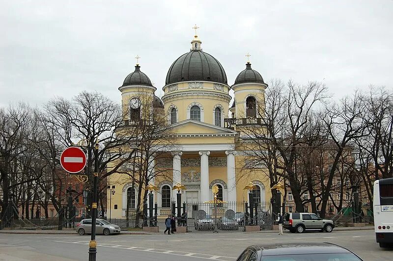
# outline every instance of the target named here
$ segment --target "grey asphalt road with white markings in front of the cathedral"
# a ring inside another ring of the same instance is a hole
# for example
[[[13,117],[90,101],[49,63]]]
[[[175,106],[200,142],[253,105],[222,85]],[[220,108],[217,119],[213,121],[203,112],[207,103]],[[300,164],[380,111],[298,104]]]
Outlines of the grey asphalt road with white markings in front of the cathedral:
[[[0,234],[0,260],[87,260],[90,236]],[[393,249],[381,249],[373,231],[332,233],[187,233],[164,235],[98,235],[97,261],[235,261],[252,244],[332,242],[344,246],[365,261],[392,261]]]

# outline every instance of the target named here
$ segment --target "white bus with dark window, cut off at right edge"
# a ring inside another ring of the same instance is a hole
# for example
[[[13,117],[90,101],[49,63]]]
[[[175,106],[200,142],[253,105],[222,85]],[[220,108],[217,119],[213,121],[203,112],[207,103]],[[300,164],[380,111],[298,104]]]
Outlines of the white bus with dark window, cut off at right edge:
[[[393,246],[393,178],[374,182],[374,230],[380,247]]]

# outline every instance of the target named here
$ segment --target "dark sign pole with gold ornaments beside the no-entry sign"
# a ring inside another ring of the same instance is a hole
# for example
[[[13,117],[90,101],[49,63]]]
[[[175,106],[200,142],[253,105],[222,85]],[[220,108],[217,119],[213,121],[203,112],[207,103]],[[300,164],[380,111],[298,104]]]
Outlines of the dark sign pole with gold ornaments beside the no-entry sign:
[[[89,261],[96,261],[97,241],[95,241],[95,228],[97,219],[97,178],[98,178],[98,142],[94,146],[94,187],[93,187],[93,203],[91,209],[93,215],[91,218],[91,238],[89,242]]]

